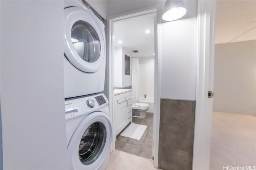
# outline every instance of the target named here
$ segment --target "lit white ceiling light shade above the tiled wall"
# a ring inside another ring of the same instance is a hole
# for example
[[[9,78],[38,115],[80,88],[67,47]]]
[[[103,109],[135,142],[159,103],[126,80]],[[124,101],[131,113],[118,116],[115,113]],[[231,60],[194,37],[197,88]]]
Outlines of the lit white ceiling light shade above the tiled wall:
[[[186,8],[183,0],[167,0],[164,4],[164,14],[162,19],[165,21],[174,21],[186,14]]]

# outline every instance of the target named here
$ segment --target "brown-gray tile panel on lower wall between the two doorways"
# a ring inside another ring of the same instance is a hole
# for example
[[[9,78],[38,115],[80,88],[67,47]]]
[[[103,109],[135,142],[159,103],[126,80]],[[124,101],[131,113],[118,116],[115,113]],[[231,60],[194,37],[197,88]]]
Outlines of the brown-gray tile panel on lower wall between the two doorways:
[[[161,99],[158,167],[192,170],[196,101]]]

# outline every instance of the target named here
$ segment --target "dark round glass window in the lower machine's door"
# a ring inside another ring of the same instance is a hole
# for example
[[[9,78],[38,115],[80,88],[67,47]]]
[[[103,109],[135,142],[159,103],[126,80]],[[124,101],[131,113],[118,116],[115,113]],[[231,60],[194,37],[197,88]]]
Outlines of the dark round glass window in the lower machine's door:
[[[92,164],[100,156],[106,143],[106,127],[95,122],[84,132],[79,145],[78,156],[82,164]]]

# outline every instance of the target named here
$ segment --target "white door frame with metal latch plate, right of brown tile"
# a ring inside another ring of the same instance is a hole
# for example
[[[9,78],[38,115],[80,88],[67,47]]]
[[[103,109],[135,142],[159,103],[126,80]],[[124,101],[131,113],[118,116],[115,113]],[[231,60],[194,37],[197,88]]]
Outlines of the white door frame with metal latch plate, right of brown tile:
[[[212,99],[214,79],[214,33],[216,0],[198,0],[198,68],[194,126],[193,170],[210,168]]]

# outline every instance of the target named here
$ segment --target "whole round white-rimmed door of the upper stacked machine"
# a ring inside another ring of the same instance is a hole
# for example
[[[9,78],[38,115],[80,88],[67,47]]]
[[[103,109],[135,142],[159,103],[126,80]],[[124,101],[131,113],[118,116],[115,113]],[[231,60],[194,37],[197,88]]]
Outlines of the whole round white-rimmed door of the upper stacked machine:
[[[105,33],[90,11],[64,9],[64,54],[83,72],[96,72],[105,60]]]

